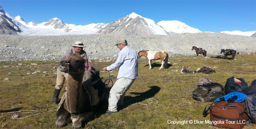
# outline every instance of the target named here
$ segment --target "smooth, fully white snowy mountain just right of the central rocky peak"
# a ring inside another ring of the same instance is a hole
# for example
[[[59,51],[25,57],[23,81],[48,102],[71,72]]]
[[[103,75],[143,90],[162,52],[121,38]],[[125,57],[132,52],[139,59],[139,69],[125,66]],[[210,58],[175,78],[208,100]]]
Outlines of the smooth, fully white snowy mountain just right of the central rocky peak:
[[[183,22],[178,20],[162,20],[157,22],[158,25],[162,26],[169,33],[199,33],[202,32],[196,28],[190,27]]]

